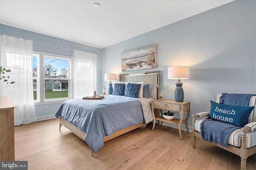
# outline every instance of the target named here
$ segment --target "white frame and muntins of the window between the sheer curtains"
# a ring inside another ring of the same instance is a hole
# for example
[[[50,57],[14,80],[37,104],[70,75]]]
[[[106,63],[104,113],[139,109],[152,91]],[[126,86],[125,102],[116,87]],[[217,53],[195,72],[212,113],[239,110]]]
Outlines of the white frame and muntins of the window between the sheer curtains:
[[[71,99],[72,96],[72,57],[64,56],[64,55],[56,55],[44,52],[33,51],[33,56],[38,55],[37,59],[37,77],[33,79],[37,79],[37,100],[34,100],[35,105],[41,104],[54,104],[54,103],[62,103],[68,99]],[[52,98],[45,99],[45,86],[44,80],[57,80],[60,78],[47,78],[44,77],[44,58],[50,59],[59,59],[68,61],[68,78],[62,78],[62,80],[68,80],[68,97],[67,98]]]

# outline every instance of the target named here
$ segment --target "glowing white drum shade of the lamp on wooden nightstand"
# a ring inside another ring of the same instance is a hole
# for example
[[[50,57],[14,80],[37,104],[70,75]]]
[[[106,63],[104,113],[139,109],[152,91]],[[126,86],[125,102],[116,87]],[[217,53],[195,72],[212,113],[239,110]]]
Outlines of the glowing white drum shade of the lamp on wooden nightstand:
[[[168,79],[188,79],[189,66],[168,67]]]

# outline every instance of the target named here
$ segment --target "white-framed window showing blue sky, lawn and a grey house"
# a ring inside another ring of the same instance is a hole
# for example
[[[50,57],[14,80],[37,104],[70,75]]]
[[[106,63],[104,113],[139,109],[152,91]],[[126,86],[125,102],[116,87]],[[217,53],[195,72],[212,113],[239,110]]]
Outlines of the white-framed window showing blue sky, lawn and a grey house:
[[[34,101],[70,99],[70,66],[71,57],[33,54]]]

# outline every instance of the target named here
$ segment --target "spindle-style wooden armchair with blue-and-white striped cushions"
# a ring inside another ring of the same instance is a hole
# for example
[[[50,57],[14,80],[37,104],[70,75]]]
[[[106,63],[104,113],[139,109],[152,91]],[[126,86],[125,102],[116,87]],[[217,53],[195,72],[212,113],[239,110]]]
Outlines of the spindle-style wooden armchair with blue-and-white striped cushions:
[[[217,95],[216,102],[220,103],[221,94]],[[223,147],[213,143],[214,145],[228,150],[241,157],[241,170],[246,170],[246,159],[248,156],[256,154],[256,96],[250,98],[249,106],[254,106],[254,109],[250,113],[248,124],[240,129],[236,129],[231,133],[228,138],[228,147]],[[209,116],[210,112],[201,112],[193,115],[193,147],[196,148],[196,137],[202,139],[200,134],[200,123]],[[202,119],[197,119],[200,117]]]

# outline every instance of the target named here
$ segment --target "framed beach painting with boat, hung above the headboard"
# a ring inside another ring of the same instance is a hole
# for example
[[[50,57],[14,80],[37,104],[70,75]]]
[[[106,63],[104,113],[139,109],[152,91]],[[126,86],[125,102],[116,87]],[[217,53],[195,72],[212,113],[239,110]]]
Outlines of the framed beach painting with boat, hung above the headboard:
[[[122,53],[122,71],[156,68],[156,44]]]

